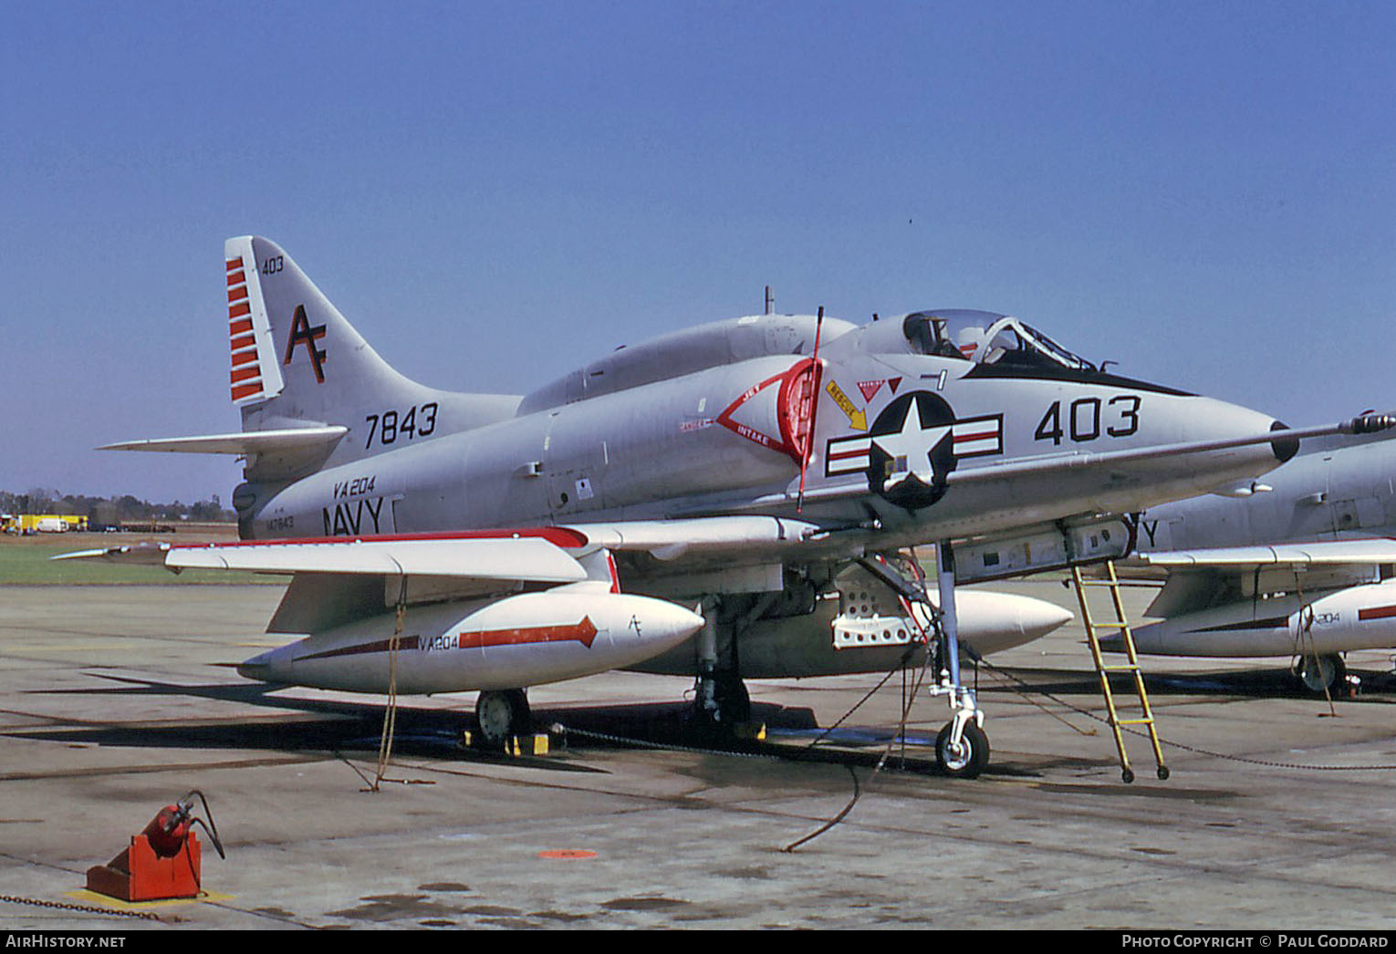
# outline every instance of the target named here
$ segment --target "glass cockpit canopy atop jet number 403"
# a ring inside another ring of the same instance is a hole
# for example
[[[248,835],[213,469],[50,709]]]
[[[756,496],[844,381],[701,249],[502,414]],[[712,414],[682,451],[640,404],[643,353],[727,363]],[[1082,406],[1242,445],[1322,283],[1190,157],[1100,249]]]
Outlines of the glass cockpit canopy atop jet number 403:
[[[919,354],[1012,368],[1096,371],[1032,325],[991,311],[913,311],[902,333]]]

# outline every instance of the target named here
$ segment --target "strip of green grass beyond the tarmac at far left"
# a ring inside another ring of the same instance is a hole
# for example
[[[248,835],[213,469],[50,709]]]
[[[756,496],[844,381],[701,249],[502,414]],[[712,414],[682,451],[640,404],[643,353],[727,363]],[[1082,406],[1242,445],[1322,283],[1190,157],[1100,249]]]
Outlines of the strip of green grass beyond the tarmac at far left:
[[[200,534],[163,537],[170,543],[207,543],[236,540],[236,530],[214,530]],[[285,584],[286,576],[261,576],[243,572],[184,570],[172,573],[159,566],[121,565],[103,559],[50,559],[59,554],[102,547],[123,547],[149,541],[134,534],[63,533],[38,537],[0,534],[0,586],[103,586],[121,583],[198,584],[198,583],[275,583]]]

